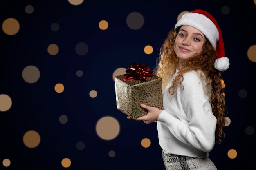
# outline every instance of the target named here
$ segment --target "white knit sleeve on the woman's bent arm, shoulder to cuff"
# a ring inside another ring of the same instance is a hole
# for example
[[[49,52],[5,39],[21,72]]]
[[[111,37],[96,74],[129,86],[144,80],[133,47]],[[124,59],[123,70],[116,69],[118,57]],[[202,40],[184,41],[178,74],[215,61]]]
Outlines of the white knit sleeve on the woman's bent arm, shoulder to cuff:
[[[191,72],[183,76],[183,91],[177,91],[176,99],[166,106],[157,121],[183,143],[210,152],[215,144],[216,117],[198,75]]]

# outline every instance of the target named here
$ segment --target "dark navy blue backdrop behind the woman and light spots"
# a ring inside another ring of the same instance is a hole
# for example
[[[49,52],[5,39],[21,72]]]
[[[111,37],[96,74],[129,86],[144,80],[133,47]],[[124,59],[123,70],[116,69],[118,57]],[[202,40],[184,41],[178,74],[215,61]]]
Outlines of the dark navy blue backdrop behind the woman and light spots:
[[[25,13],[27,5],[34,7]],[[230,13],[222,14],[228,6]],[[155,0],[155,1],[90,1],[71,5],[67,0],[9,0],[0,2],[0,23],[16,18],[20,30],[16,35],[0,31],[0,94],[12,99],[12,107],[0,113],[0,161],[11,160],[9,167],[0,169],[72,169],[72,170],[164,170],[156,124],[130,121],[116,109],[112,74],[117,68],[127,68],[133,62],[155,67],[159,47],[182,11],[204,9],[219,23],[230,67],[223,73],[228,117],[226,137],[216,144],[210,158],[218,170],[256,168],[255,134],[247,135],[245,128],[255,128],[255,63],[249,61],[247,50],[256,44],[256,5],[253,0]],[[144,25],[132,30],[126,25],[131,12],[144,17]],[[106,20],[108,29],[99,29]],[[58,23],[60,29],[50,29]],[[89,51],[84,56],[75,53],[75,45],[85,42]],[[47,53],[49,44],[57,44],[59,53]],[[153,53],[146,55],[144,46],[151,45]],[[40,79],[28,84],[22,70],[34,65]],[[76,71],[83,76],[77,77]],[[55,84],[65,86],[63,93],[54,91]],[[247,91],[241,98],[238,92]],[[91,98],[90,90],[98,95]],[[60,124],[60,115],[67,115],[67,124]],[[104,141],[97,136],[96,122],[103,116],[115,117],[121,127],[117,138]],[[22,137],[36,130],[41,141],[36,148],[27,148]],[[149,138],[151,146],[143,148],[141,139]],[[84,150],[76,143],[83,141]],[[238,156],[230,159],[227,152],[235,149]],[[115,157],[108,152],[115,151]],[[61,166],[65,157],[71,159],[69,168]],[[91,167],[91,168],[89,168]]]

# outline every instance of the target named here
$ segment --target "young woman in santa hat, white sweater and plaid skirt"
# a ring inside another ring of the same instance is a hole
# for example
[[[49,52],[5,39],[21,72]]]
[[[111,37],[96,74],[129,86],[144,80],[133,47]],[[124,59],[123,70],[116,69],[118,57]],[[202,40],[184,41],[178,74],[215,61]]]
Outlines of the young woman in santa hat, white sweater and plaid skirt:
[[[141,104],[148,113],[135,120],[157,121],[167,170],[216,170],[209,152],[224,136],[224,55],[218,23],[203,10],[184,14],[160,49],[155,74],[162,78],[164,109]]]

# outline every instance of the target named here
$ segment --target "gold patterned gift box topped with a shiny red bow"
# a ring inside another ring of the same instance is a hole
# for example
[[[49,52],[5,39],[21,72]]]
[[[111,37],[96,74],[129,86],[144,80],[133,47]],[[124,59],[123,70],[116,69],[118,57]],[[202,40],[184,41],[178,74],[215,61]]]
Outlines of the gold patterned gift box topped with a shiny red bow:
[[[150,73],[147,65],[134,63],[128,67],[127,74],[115,77],[117,109],[132,119],[147,114],[140,103],[162,110],[162,79]]]

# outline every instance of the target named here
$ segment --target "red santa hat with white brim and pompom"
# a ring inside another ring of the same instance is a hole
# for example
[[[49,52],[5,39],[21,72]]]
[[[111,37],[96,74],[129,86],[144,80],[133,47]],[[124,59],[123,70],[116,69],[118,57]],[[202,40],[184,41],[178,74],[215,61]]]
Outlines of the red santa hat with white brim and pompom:
[[[220,27],[211,14],[200,9],[190,11],[182,15],[175,28],[182,25],[193,26],[208,38],[216,51],[217,59],[214,62],[214,67],[217,70],[225,71],[229,68],[229,59],[225,57],[224,42]]]

